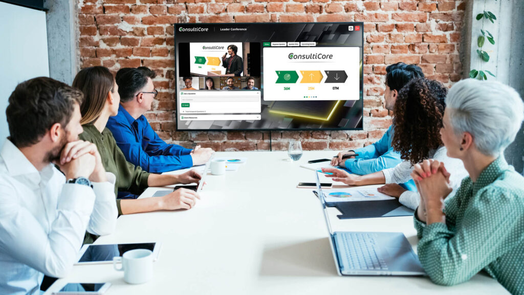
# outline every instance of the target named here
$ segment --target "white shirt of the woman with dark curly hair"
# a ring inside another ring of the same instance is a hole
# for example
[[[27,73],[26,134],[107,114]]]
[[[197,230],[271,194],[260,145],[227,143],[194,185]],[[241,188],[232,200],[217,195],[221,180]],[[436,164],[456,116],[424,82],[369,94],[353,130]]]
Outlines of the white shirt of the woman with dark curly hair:
[[[456,190],[460,187],[462,179],[468,176],[462,160],[448,157],[445,146],[441,146],[438,149],[431,151],[429,158],[444,163],[447,172],[450,172],[451,174],[450,185],[453,188],[453,191],[448,195],[448,197],[455,195]],[[386,178],[386,183],[407,182],[411,180],[411,171],[413,171],[413,166],[410,161],[402,161],[394,168],[382,170],[384,177]],[[405,191],[400,195],[398,201],[402,205],[415,210],[419,206],[420,195],[418,192]]]

